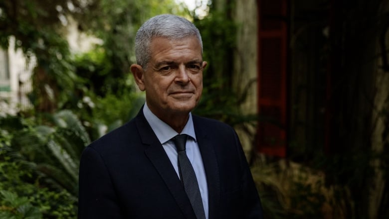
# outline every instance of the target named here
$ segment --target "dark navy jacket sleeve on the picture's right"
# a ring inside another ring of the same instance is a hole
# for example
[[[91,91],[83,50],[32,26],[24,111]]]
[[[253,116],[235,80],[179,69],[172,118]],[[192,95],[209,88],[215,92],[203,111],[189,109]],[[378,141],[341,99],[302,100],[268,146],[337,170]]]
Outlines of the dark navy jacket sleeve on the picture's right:
[[[255,183],[252,178],[246,156],[244,155],[242,145],[236,132],[234,133],[234,136],[236,145],[238,147],[238,153],[242,168],[243,197],[245,202],[243,206],[246,208],[243,210],[245,216],[242,218],[263,219],[261,201],[259,199],[259,195],[255,187]]]

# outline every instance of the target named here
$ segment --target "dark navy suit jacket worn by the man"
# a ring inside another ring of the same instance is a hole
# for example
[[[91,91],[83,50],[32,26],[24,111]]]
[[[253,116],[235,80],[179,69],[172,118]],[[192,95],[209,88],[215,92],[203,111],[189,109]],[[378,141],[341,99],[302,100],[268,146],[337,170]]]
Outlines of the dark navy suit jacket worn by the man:
[[[208,184],[209,219],[260,219],[257,190],[232,127],[193,116]],[[195,219],[165,150],[141,109],[91,143],[80,161],[79,219]]]

